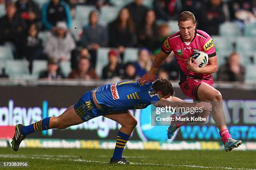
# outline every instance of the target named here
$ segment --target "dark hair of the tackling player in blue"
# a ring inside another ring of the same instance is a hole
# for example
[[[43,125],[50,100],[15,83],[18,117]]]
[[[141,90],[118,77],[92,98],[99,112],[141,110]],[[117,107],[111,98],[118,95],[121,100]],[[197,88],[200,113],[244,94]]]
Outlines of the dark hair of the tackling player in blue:
[[[156,80],[152,85],[154,91],[161,91],[163,96],[171,94],[174,96],[174,89],[170,80],[161,78],[161,80]]]

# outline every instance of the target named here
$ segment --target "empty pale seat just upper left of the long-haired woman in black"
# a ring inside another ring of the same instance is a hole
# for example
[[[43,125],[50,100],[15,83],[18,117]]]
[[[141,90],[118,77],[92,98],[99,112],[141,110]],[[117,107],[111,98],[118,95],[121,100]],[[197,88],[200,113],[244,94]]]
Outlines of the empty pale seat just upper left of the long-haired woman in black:
[[[101,7],[100,11],[100,23],[102,25],[107,25],[118,17],[119,8],[113,6],[103,6]]]

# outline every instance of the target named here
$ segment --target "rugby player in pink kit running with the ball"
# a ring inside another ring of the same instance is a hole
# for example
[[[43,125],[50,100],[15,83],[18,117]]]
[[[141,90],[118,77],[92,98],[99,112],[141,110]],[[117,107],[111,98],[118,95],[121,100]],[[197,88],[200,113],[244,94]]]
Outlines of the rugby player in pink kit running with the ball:
[[[225,114],[222,107],[222,95],[216,90],[213,85],[211,73],[218,69],[217,55],[212,38],[204,31],[197,30],[195,16],[193,13],[185,11],[179,15],[178,19],[179,32],[170,35],[164,41],[161,51],[156,56],[152,68],[143,77],[141,82],[154,81],[156,72],[165,60],[165,58],[173,51],[180,67],[180,82],[179,86],[185,95],[193,100],[211,101],[212,103],[212,118],[220,130],[220,137],[223,141],[225,150],[231,151],[241,145],[241,140],[234,140],[226,126]],[[199,68],[194,59],[193,62],[190,56],[197,51],[204,51],[209,56],[209,61],[205,67]],[[195,113],[193,116],[207,117],[209,112],[204,114]],[[183,115],[189,117],[191,114]],[[175,117],[175,115],[173,115]],[[191,121],[190,121],[191,122]],[[168,128],[168,138],[180,126],[184,125],[185,121],[172,121]]]

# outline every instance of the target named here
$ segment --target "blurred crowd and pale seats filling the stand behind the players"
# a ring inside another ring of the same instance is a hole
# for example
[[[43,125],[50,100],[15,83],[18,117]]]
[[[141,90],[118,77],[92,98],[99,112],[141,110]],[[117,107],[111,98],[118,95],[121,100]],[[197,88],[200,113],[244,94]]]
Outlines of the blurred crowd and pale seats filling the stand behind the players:
[[[191,11],[219,81],[256,82],[255,0],[0,0],[0,77],[136,79]],[[173,53],[158,77],[179,80]]]

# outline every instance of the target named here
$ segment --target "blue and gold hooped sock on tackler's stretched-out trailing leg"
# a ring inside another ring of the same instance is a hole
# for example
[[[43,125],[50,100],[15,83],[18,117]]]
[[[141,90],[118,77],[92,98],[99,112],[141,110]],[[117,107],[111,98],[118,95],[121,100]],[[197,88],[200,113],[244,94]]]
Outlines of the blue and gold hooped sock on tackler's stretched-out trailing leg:
[[[39,120],[31,125],[24,126],[21,129],[21,134],[26,136],[26,135],[29,135],[36,131],[47,130],[47,129],[49,129],[49,123],[50,123],[50,117],[46,117],[46,118]]]

